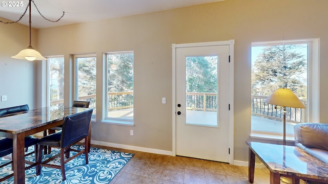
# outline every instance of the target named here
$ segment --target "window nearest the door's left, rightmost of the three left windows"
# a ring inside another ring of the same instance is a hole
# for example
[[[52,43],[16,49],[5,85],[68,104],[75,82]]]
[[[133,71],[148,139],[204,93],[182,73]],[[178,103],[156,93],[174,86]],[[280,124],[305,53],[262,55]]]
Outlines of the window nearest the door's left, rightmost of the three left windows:
[[[106,120],[133,124],[133,52],[106,54]]]

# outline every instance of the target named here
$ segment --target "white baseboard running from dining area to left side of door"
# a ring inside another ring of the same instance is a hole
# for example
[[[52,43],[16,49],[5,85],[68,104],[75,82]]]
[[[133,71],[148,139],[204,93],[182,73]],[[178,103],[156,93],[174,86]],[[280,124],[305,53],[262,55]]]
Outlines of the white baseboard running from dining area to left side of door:
[[[109,146],[109,147],[114,147],[114,148],[129,149],[129,150],[134,150],[134,151],[142,151],[142,152],[148,152],[148,153],[155,153],[155,154],[162,154],[162,155],[170,155],[170,156],[173,155],[172,151],[143,148],[143,147],[138,147],[138,146],[122,145],[122,144],[115,144],[115,143],[107,143],[107,142],[101,142],[101,141],[92,141],[91,140],[91,144],[99,145],[99,146]]]

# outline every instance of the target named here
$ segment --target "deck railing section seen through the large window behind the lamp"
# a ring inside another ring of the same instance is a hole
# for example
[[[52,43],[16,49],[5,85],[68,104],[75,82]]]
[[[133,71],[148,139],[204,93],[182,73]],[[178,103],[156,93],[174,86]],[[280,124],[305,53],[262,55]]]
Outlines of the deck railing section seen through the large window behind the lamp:
[[[264,103],[268,96],[252,95],[252,114],[259,117],[281,120],[282,109],[276,109],[275,105]],[[301,100],[306,106],[306,100]],[[302,123],[308,118],[305,109],[286,107],[286,121],[291,123]]]

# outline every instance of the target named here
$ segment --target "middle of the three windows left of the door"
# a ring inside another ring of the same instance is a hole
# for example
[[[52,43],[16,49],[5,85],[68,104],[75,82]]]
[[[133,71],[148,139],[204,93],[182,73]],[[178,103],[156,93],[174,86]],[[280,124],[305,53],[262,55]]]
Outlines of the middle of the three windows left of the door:
[[[90,101],[96,114],[96,55],[75,55],[75,100]]]

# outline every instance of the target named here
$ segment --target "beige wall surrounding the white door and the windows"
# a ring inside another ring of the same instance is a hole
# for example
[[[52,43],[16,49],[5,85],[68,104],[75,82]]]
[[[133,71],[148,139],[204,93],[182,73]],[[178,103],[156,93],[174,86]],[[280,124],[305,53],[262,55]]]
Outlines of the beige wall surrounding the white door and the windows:
[[[171,44],[234,39],[234,160],[247,162],[248,147],[245,141],[251,140],[251,42],[320,38],[320,122],[328,122],[325,106],[328,96],[324,95],[328,89],[325,81],[325,71],[328,69],[326,7],[326,0],[227,0],[40,29],[37,32],[37,49],[45,56],[65,55],[67,65],[70,63],[70,54],[97,53],[97,68],[100,69],[97,71],[98,94],[103,90],[102,53],[134,51],[135,126],[103,124],[99,112],[97,122],[92,124],[92,140],[171,151]],[[11,46],[18,48],[21,45]],[[16,48],[13,50],[16,51]],[[1,52],[0,64],[3,66],[3,60],[15,52],[11,49]],[[11,54],[6,54],[8,52]],[[15,69],[11,68],[11,71]],[[0,73],[0,76],[3,78],[8,75]],[[65,82],[69,84],[67,79]],[[66,89],[69,90],[68,87]],[[0,95],[1,90],[2,87]],[[14,87],[10,90],[14,91]],[[161,97],[167,98],[167,104],[161,104]],[[68,100],[71,97],[66,95],[65,98]],[[98,109],[104,101],[101,96],[97,96]],[[134,136],[129,135],[130,129],[134,130]]]

